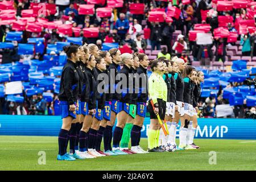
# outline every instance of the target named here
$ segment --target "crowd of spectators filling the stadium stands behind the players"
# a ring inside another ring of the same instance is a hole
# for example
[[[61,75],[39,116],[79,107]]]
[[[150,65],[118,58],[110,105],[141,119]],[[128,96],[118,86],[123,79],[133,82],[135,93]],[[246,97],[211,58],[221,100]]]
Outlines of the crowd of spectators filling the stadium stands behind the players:
[[[233,60],[246,60],[247,68],[255,67],[255,18],[256,2],[249,0],[1,0],[0,42],[10,42],[12,46],[0,46],[0,61],[2,65],[31,63],[31,60],[44,61],[46,56],[52,60],[51,56],[64,53],[54,46],[51,48],[51,44],[81,38],[81,44],[93,43],[99,49],[117,45],[121,53],[143,52],[151,60],[162,56],[171,59],[176,55],[188,64],[210,70],[231,69]],[[8,37],[14,31],[22,32],[20,39]],[[199,32],[212,34],[212,44],[197,44]],[[36,42],[32,53],[26,54],[26,50],[19,53],[18,45],[27,45],[31,38],[44,39]],[[49,72],[44,74],[47,75],[51,76]],[[235,88],[241,82],[230,81],[225,86]],[[42,93],[27,96],[23,85],[22,95],[22,103],[1,97],[0,114],[59,115],[56,92],[52,100],[46,100]],[[222,96],[220,87],[216,95],[201,97],[200,117],[216,117],[216,105],[229,104]],[[248,111],[255,113],[255,107],[247,106],[246,102],[233,109],[236,118],[245,117]]]

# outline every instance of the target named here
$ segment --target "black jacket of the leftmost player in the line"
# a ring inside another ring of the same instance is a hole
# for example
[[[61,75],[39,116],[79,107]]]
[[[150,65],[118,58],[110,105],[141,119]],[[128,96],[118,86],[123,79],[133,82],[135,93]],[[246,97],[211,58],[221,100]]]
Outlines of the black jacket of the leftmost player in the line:
[[[78,99],[79,85],[76,64],[68,60],[61,73],[59,100],[67,101],[69,105],[73,105]]]

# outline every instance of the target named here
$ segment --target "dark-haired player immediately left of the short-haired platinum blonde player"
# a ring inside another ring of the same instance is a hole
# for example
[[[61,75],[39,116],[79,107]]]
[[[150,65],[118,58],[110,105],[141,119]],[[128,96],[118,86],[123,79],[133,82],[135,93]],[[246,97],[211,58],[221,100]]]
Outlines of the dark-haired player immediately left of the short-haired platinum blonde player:
[[[110,72],[110,93],[112,93],[112,103],[111,103],[111,113],[110,113],[110,121],[107,122],[106,128],[104,130],[104,152],[112,151],[112,137],[113,137],[113,126],[115,124],[115,119],[117,118],[119,101],[121,100],[121,94],[117,92],[115,89],[119,78],[117,77],[120,67],[119,64],[122,61],[121,52],[117,48],[109,49],[110,56],[112,57],[112,64],[109,64],[109,72]]]

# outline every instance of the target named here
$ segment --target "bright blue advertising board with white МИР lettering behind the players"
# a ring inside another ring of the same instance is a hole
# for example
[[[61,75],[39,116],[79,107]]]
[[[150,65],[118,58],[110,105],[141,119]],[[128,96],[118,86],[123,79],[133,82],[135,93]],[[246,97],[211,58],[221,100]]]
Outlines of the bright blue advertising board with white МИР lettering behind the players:
[[[0,115],[0,135],[57,136],[61,123],[60,116]],[[196,138],[256,139],[256,120],[253,119],[200,118],[198,123]],[[149,125],[150,118],[146,118],[143,138],[147,137]]]

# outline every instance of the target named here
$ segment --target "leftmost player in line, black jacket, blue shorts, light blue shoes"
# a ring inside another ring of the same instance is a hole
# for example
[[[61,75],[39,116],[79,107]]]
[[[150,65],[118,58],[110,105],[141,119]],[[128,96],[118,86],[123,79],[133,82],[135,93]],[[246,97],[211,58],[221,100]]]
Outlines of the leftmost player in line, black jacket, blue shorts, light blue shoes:
[[[65,64],[60,79],[60,110],[63,123],[59,133],[59,155],[57,160],[76,160],[67,154],[68,132],[71,129],[71,123],[76,118],[76,102],[79,94],[79,75],[76,70],[76,63],[79,61],[79,47],[65,46],[63,47],[68,56],[67,64]]]

